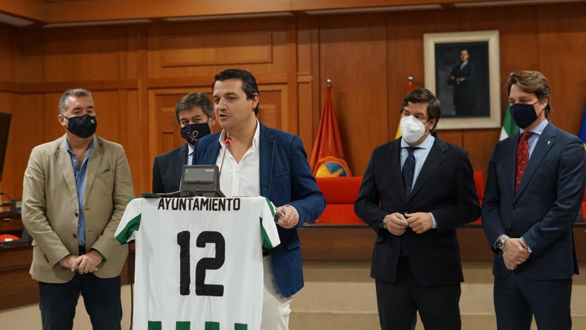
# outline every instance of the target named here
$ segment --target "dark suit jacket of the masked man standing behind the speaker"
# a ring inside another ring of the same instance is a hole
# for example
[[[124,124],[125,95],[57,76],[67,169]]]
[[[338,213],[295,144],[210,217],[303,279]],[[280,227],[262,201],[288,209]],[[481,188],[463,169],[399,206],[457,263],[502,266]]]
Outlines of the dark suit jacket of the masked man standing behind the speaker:
[[[181,171],[187,163],[187,144],[155,157],[152,164],[152,192],[174,193],[179,190]]]

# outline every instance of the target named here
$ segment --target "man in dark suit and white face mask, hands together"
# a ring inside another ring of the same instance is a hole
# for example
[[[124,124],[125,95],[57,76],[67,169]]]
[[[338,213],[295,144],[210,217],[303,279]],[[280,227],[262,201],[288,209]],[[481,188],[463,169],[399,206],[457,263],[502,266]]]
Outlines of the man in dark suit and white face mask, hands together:
[[[461,328],[464,281],[456,227],[480,215],[466,150],[433,132],[440,101],[427,89],[401,105],[400,139],[374,149],[354,210],[376,231],[370,276],[383,330]]]

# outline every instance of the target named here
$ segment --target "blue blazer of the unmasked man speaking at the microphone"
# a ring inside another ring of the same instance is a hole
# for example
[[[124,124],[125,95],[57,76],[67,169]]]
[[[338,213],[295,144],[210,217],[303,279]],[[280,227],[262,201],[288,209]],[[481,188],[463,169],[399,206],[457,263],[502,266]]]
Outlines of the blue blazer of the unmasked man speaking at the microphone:
[[[307,155],[298,136],[270,129],[260,123],[260,194],[268,197],[275,206],[291,205],[299,213],[301,227],[314,221],[326,206],[315,178],[309,169]],[[216,132],[197,140],[197,164],[216,164],[220,152]],[[285,229],[277,225],[281,244],[272,249],[272,274],[283,297],[290,297],[303,285],[301,252],[297,228]]]

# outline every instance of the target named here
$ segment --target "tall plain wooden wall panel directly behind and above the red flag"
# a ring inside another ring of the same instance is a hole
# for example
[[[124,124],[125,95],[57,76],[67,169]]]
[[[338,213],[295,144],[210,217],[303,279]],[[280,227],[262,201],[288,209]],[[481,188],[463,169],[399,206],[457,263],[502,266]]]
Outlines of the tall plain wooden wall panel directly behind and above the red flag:
[[[319,18],[320,104],[331,78],[346,161],[355,176],[387,140],[385,25],[384,15]]]

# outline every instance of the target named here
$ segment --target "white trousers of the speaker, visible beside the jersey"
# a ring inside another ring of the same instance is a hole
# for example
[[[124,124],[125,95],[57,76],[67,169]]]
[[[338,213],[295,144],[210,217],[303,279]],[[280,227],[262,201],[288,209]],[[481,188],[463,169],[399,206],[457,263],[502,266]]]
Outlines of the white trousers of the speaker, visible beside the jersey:
[[[275,278],[272,276],[271,256],[263,260],[264,292],[263,292],[263,317],[261,330],[288,330],[289,314],[291,309],[291,297],[284,298],[277,289]]]

